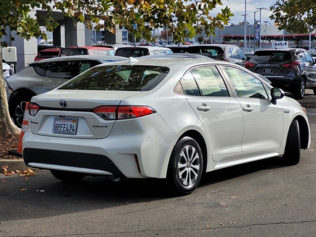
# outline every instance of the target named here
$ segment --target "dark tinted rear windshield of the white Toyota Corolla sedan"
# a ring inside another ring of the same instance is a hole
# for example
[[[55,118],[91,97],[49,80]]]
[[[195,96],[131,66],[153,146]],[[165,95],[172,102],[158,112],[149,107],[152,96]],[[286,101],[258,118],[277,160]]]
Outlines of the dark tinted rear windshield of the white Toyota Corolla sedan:
[[[94,67],[70,80],[59,89],[148,91],[155,88],[168,73],[169,68],[156,66]]]

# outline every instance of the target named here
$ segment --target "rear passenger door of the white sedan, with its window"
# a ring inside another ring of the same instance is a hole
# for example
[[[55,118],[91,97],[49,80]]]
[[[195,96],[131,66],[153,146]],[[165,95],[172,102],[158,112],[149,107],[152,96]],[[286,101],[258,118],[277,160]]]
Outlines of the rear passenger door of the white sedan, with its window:
[[[240,158],[243,132],[239,102],[216,66],[192,69],[181,81],[187,99],[203,124],[215,161]]]

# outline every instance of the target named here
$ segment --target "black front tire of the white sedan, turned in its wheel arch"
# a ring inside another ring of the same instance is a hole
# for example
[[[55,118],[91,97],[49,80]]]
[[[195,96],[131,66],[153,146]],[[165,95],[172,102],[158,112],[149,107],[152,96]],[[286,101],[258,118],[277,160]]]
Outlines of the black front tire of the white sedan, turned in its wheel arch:
[[[300,126],[296,119],[291,122],[288,130],[283,161],[285,164],[294,165],[300,162],[301,137]]]

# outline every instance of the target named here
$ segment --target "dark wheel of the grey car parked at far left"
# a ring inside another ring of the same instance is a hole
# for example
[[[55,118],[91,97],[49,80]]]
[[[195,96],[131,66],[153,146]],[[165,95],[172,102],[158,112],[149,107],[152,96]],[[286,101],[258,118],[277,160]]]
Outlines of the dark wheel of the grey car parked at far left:
[[[10,107],[10,116],[13,119],[14,124],[17,127],[22,127],[23,116],[26,102],[31,101],[32,94],[23,94],[23,95],[16,95],[12,98],[12,101],[9,105]]]

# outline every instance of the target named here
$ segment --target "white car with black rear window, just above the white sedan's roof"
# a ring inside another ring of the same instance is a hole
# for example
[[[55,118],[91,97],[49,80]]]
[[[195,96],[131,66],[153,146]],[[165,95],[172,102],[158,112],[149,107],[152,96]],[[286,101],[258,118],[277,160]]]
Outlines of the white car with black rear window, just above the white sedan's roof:
[[[155,47],[155,46],[137,46],[137,47],[119,47],[115,56],[120,57],[142,57],[146,55],[155,55],[155,54],[171,54],[173,53],[169,48]]]

